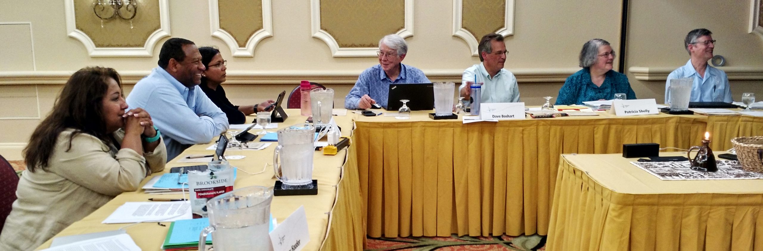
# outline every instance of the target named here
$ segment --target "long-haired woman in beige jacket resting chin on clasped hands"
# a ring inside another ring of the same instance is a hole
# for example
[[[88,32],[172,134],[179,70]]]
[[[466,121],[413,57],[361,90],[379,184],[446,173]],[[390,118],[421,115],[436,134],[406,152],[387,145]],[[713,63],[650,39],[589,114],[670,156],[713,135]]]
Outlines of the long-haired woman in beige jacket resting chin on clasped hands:
[[[130,111],[117,71],[75,72],[34,130],[0,250],[30,250],[124,191],[135,191],[167,154],[141,108]]]

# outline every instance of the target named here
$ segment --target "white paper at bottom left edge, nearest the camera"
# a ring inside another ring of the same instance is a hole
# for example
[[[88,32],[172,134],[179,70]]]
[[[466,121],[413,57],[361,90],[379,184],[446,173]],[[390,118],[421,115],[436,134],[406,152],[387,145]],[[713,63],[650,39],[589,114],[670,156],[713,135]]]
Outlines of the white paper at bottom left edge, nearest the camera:
[[[122,233],[109,237],[101,237],[90,240],[82,240],[76,243],[55,246],[47,251],[140,251],[140,247],[135,244],[133,238],[127,233]]]

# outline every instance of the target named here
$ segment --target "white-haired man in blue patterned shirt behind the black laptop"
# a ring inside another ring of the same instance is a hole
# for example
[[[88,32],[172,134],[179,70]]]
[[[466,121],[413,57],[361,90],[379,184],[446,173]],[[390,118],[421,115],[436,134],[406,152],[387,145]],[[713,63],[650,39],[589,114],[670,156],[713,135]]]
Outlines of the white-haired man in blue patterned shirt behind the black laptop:
[[[428,83],[427,76],[414,66],[401,63],[408,52],[403,37],[389,34],[379,40],[379,64],[365,69],[344,98],[344,108],[368,109],[378,104],[387,108],[390,84]]]

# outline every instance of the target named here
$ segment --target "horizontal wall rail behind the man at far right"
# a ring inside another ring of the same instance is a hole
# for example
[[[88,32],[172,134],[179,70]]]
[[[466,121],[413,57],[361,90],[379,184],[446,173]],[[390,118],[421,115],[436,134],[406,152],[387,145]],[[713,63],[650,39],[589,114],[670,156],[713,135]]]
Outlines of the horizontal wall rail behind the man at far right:
[[[633,66],[628,71],[639,80],[665,81],[668,74],[678,67],[639,67]],[[726,66],[717,67],[726,72],[729,80],[760,80],[763,79],[763,66]]]

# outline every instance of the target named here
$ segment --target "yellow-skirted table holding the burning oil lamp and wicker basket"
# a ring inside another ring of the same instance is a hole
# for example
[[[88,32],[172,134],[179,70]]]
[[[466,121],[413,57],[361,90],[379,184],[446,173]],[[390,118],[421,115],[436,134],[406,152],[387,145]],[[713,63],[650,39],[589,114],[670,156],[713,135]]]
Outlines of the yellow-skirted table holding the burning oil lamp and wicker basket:
[[[660,181],[635,160],[562,156],[546,250],[763,250],[763,180]],[[652,189],[601,185],[617,179]],[[724,193],[695,192],[714,188]]]

